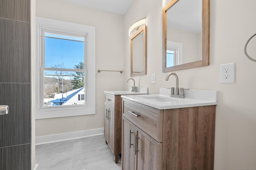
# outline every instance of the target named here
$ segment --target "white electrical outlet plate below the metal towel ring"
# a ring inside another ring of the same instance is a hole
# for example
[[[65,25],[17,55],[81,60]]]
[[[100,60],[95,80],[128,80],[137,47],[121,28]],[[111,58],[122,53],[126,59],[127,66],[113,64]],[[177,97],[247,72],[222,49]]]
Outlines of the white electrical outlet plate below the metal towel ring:
[[[235,63],[220,65],[220,83],[235,82]]]

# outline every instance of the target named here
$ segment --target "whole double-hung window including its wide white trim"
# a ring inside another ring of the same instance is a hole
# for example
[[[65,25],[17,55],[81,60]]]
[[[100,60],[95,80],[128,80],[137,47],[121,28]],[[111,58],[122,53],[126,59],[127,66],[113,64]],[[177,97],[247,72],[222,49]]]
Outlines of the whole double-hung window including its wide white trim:
[[[40,17],[36,22],[36,119],[95,114],[95,27]]]

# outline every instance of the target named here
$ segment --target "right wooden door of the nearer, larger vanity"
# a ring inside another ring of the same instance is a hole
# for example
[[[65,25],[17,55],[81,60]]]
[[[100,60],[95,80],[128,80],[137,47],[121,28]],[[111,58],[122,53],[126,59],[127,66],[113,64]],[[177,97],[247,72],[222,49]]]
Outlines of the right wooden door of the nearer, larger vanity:
[[[135,169],[162,170],[162,143],[158,143],[138,127],[134,140]]]

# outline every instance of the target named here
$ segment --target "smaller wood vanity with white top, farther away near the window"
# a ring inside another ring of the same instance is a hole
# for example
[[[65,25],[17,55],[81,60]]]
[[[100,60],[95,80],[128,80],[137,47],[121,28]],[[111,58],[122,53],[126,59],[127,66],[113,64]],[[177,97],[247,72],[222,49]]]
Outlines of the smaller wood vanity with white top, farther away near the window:
[[[104,135],[106,143],[118,162],[118,155],[122,152],[122,98],[121,95],[148,94],[148,88],[140,88],[139,92],[104,91],[105,93],[105,123]]]

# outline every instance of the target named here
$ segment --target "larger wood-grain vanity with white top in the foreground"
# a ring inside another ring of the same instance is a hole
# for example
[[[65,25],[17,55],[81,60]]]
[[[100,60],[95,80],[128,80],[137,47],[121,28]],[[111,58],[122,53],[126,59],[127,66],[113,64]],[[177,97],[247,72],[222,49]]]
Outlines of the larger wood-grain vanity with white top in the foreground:
[[[122,98],[122,170],[213,170],[216,91]]]

